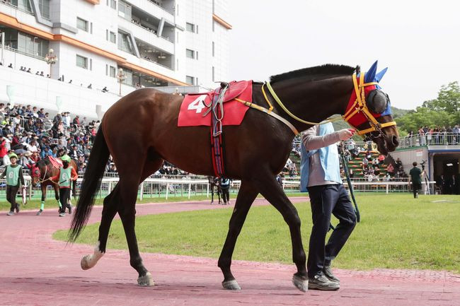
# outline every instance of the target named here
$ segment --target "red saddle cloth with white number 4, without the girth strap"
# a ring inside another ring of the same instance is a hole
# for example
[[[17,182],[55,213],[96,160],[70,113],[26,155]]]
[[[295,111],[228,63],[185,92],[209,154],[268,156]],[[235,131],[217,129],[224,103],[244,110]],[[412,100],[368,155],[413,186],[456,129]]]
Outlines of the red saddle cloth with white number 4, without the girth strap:
[[[214,95],[217,95],[214,91],[185,95],[180,106],[178,126],[211,126],[211,112],[205,117],[203,117],[203,114],[208,109],[205,104],[211,105]],[[249,108],[236,101],[235,98],[252,102],[253,81],[232,81],[229,83],[229,88],[224,94],[223,125],[241,124]]]

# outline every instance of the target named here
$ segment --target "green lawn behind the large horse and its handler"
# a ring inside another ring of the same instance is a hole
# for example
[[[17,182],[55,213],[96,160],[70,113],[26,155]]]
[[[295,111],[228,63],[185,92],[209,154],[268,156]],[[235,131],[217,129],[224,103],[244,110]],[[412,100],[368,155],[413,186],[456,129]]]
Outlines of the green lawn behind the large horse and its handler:
[[[434,269],[460,271],[460,197],[411,194],[358,194],[362,220],[334,261],[343,269]],[[437,201],[433,203],[433,201]],[[309,202],[297,204],[305,251],[311,230]],[[142,252],[219,257],[231,208],[166,213],[136,218]],[[333,224],[337,224],[333,220]],[[67,231],[54,238],[65,240]],[[86,227],[79,243],[93,245],[98,224]],[[110,229],[108,248],[126,249],[119,220]],[[238,238],[234,259],[292,262],[289,230],[272,206],[253,207]]]

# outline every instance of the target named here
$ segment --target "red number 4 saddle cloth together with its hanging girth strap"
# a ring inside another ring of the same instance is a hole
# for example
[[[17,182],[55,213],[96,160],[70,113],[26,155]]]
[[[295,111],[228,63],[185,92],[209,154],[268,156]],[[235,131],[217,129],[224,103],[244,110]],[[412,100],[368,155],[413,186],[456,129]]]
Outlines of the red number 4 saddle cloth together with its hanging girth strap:
[[[248,106],[235,98],[252,102],[253,81],[222,83],[209,93],[185,95],[180,106],[178,126],[210,126],[212,167],[215,177],[224,177],[222,126],[239,125]]]

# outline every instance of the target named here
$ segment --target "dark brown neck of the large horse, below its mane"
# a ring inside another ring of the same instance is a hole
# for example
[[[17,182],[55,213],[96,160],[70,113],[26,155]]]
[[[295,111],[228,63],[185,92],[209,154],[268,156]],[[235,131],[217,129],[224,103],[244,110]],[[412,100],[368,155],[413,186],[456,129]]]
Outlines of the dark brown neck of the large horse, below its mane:
[[[351,76],[308,82],[297,78],[279,81],[272,88],[289,112],[309,122],[321,122],[333,114],[345,114],[353,83]],[[274,106],[298,131],[312,126],[290,117],[277,103]]]

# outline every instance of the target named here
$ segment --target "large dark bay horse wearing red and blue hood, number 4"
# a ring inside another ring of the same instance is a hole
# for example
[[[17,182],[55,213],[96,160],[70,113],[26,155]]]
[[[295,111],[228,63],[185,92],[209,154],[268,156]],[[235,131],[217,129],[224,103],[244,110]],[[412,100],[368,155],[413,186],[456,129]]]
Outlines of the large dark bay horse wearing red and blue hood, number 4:
[[[374,66],[376,69],[376,64]],[[231,273],[231,257],[249,208],[260,193],[275,206],[289,226],[292,259],[297,266],[292,282],[299,290],[307,290],[308,276],[306,254],[301,240],[301,221],[296,208],[284,194],[275,176],[289,158],[295,131],[309,129],[315,122],[321,122],[333,114],[347,113],[348,116],[355,108],[360,111],[354,112],[350,117],[364,113],[363,101],[359,98],[364,98],[365,106],[369,95],[376,90],[377,83],[372,83],[376,79],[375,69],[366,73],[366,81],[360,77],[360,84],[357,84],[357,74],[361,76],[364,73],[360,73],[359,66],[355,69],[331,64],[272,76],[270,83],[253,83],[253,105],[265,107],[268,105],[267,101],[271,102],[272,113],[278,118],[251,107],[241,125],[224,126],[226,176],[241,180],[241,188],[229,221],[229,232],[218,260],[218,266],[224,275],[224,288],[241,289]],[[381,78],[381,72],[377,74]],[[271,87],[269,94],[263,93],[263,86],[265,91]],[[374,90],[364,93],[363,89],[369,91],[369,88]],[[355,104],[348,111],[354,93]],[[376,104],[373,107],[376,109],[385,104],[389,108],[389,100],[382,103],[388,99],[385,93],[379,91],[374,96],[373,103],[367,101],[369,107]],[[209,126],[178,127],[182,101],[181,96],[143,88],[121,98],[105,112],[71,222],[70,242],[76,240],[88,221],[109,155],[113,156],[120,180],[103,201],[98,242],[93,254],[81,259],[82,269],[92,268],[105,254],[110,224],[118,213],[127,237],[130,265],[139,274],[137,283],[140,286],[154,286],[151,273],[139,255],[134,231],[139,184],[156,172],[163,160],[190,173],[214,176]],[[366,116],[368,111],[366,108]],[[128,122],[130,129],[123,124]],[[366,117],[365,122],[355,127],[365,131],[363,135],[376,142],[378,150],[384,155],[398,146],[398,131],[391,113],[380,116],[372,114],[372,118]]]

